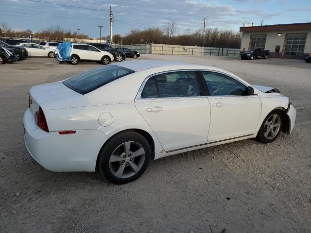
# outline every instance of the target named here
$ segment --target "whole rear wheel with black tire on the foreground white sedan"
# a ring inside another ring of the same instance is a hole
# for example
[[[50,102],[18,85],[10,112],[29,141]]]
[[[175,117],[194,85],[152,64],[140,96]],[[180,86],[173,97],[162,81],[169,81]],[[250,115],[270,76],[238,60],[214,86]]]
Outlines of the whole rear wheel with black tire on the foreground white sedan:
[[[135,153],[140,155],[135,156]],[[123,184],[135,181],[146,170],[151,149],[145,137],[128,131],[113,137],[99,156],[100,175],[111,183]]]

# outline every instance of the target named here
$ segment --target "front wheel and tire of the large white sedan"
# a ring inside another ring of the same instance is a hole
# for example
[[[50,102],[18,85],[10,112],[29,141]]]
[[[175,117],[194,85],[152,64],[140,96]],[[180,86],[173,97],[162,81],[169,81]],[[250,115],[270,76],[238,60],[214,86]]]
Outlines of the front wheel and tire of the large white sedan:
[[[276,140],[283,127],[283,115],[280,110],[274,110],[262,122],[256,139],[262,143]]]

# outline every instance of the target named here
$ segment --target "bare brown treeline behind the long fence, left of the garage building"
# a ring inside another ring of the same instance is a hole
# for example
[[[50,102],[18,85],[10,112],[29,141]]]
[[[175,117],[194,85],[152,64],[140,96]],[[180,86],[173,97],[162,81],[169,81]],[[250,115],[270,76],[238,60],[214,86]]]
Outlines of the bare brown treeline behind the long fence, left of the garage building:
[[[171,44],[171,45],[187,45],[187,46],[203,46],[205,37],[205,47],[221,47],[221,48],[236,48],[241,46],[241,33],[234,32],[228,29],[208,28],[203,35],[203,31],[175,34],[168,33],[159,28],[150,28],[146,30],[132,30],[125,36],[115,34],[113,42],[123,45],[129,44]]]

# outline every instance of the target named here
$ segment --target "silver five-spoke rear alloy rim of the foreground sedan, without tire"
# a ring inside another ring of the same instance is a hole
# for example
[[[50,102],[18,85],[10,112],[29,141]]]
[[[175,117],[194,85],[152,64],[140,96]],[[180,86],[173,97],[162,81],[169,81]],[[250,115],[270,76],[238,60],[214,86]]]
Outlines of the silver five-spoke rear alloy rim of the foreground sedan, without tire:
[[[134,141],[124,142],[111,154],[109,169],[118,178],[129,178],[134,176],[143,166],[145,161],[145,150]]]

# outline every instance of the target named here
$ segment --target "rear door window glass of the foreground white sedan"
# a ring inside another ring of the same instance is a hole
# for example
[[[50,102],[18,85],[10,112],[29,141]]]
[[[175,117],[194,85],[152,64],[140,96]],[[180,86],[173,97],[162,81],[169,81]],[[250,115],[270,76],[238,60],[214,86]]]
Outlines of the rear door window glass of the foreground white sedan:
[[[156,85],[155,85],[156,84]],[[194,71],[176,71],[150,78],[141,93],[142,98],[171,98],[200,96]]]

